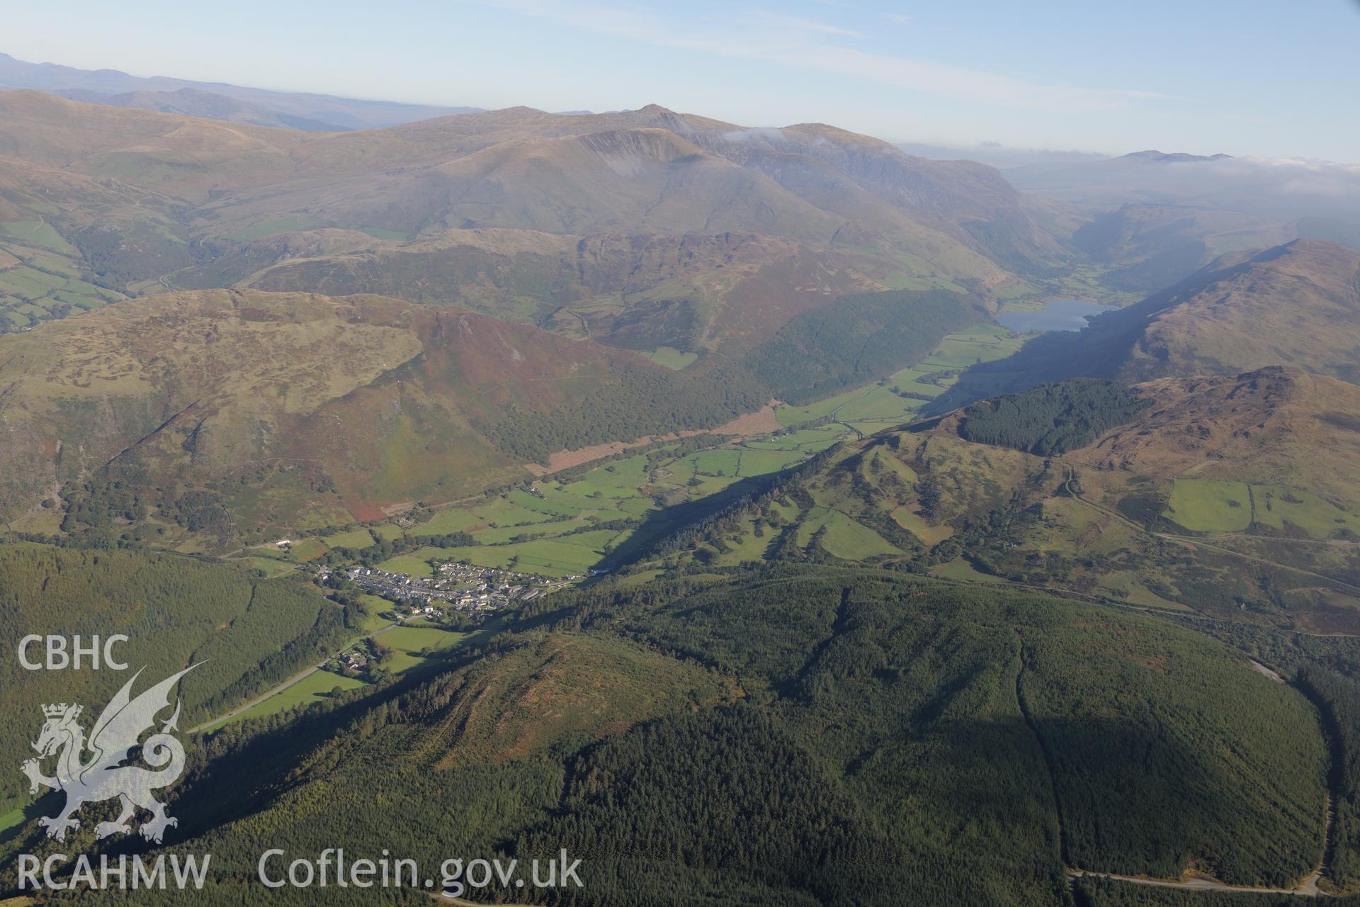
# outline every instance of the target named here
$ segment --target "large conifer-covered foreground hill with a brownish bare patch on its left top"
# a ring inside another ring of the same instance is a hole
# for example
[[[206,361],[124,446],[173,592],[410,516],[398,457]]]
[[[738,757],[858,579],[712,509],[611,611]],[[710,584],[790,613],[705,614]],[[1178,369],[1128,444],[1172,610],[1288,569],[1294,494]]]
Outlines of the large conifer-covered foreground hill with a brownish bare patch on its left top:
[[[782,564],[607,581],[505,626],[437,676],[204,741],[174,849],[218,878],[97,903],[243,903],[265,840],[422,863],[567,847],[585,888],[536,895],[639,907],[1039,907],[1072,903],[1069,865],[1276,884],[1322,854],[1314,706],[1161,619]]]

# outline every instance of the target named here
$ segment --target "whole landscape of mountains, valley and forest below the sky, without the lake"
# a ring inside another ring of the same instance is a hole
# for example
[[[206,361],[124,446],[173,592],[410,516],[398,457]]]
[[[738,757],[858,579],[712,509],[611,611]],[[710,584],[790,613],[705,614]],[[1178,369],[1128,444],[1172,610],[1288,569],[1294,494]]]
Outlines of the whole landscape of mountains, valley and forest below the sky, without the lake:
[[[340,849],[403,907],[1360,900],[1344,181],[0,84],[0,646],[194,665],[163,842],[11,771],[4,907],[20,854],[373,903],[261,885]],[[998,321],[1072,299],[1119,305]],[[29,673],[26,757],[126,683]],[[583,885],[450,877],[492,855]]]

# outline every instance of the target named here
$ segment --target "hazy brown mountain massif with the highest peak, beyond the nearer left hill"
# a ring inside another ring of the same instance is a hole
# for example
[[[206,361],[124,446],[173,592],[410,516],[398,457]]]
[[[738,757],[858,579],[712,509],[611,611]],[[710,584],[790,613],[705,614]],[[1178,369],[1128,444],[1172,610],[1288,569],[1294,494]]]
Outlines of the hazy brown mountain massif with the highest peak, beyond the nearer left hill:
[[[996,170],[819,124],[511,107],[329,133],[29,91],[0,112],[0,219],[57,230],[118,292],[381,292],[715,352],[846,294],[994,306],[1072,254]]]

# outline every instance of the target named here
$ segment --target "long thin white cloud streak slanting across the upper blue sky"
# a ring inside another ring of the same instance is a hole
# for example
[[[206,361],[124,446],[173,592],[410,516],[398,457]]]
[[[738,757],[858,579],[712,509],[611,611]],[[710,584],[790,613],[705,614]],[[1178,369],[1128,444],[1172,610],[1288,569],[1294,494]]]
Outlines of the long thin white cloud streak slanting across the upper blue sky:
[[[812,69],[960,101],[1083,113],[1136,101],[1178,99],[1155,91],[1038,84],[981,69],[873,53],[842,44],[860,37],[815,19],[738,12],[722,20],[668,19],[636,5],[593,0],[475,0],[486,5],[647,44]]]

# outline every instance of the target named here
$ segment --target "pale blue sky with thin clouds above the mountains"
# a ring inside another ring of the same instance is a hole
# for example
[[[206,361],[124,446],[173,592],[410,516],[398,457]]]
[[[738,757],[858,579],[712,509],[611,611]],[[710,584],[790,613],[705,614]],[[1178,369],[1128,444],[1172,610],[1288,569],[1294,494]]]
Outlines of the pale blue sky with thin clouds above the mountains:
[[[423,103],[1360,163],[1360,0],[67,0],[0,52]]]

